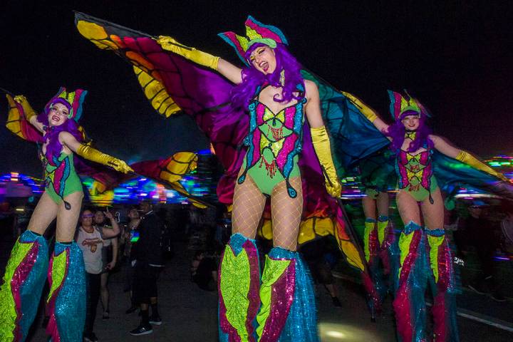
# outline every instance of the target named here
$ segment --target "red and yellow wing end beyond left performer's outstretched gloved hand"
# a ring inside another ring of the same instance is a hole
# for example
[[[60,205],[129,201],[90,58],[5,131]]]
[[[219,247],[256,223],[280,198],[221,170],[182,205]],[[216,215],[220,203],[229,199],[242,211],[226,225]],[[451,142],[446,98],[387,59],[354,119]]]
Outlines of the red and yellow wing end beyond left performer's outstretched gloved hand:
[[[177,152],[165,160],[147,160],[144,162],[136,162],[131,164],[135,172],[144,177],[155,180],[168,189],[172,189],[180,193],[180,195],[187,197],[192,204],[197,207],[212,206],[202,199],[193,197],[183,185],[180,180],[197,167],[197,155],[192,152]]]

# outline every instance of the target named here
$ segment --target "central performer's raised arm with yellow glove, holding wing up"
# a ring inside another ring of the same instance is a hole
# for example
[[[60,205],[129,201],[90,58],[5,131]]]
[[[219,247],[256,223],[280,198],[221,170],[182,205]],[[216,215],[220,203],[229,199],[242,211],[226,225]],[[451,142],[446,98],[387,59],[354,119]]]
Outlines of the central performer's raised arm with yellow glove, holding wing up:
[[[207,68],[218,71],[222,76],[229,79],[233,83],[239,84],[242,82],[241,68],[234,66],[224,59],[212,56],[209,53],[199,51],[196,48],[182,45],[175,41],[174,38],[168,36],[160,36],[157,39],[157,43],[162,46],[164,50],[171,51],[177,55],[187,58],[189,61],[199,64],[200,66],[206,66]]]

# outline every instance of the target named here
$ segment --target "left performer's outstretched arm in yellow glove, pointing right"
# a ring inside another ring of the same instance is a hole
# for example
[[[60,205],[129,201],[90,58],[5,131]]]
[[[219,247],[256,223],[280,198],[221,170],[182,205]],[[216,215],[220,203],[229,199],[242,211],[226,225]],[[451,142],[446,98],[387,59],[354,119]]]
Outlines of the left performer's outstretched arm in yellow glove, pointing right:
[[[59,133],[59,141],[61,141],[63,145],[67,146],[73,152],[76,152],[77,155],[80,155],[87,160],[110,166],[119,172],[133,172],[132,167],[128,166],[127,163],[123,160],[112,157],[94,149],[93,147],[90,147],[89,145],[84,145],[81,142],[78,142],[78,140],[76,140],[76,138],[68,132]]]

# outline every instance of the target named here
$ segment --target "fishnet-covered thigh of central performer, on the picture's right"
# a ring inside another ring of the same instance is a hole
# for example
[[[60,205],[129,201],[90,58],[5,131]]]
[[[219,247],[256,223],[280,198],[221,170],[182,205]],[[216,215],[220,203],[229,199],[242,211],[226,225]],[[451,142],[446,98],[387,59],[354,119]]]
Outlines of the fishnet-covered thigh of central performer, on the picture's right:
[[[274,247],[282,247],[289,249],[289,251],[295,251],[297,249],[301,214],[303,213],[301,177],[291,178],[290,184],[298,193],[296,198],[289,196],[285,182],[276,185],[271,195],[273,244]]]

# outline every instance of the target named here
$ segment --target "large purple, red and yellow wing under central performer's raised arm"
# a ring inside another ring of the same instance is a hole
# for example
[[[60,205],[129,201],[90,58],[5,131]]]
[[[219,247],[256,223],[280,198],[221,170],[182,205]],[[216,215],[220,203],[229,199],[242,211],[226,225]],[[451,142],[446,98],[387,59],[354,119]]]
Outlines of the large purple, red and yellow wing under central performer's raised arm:
[[[237,147],[248,131],[244,110],[229,104],[232,84],[218,73],[163,51],[146,33],[81,13],[76,14],[75,23],[96,46],[113,51],[134,66],[146,97],[158,113],[169,116],[182,110],[196,120],[226,170],[217,188],[219,201],[231,203],[244,157]]]

